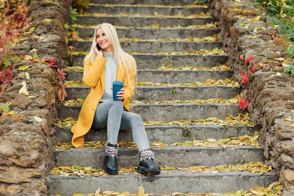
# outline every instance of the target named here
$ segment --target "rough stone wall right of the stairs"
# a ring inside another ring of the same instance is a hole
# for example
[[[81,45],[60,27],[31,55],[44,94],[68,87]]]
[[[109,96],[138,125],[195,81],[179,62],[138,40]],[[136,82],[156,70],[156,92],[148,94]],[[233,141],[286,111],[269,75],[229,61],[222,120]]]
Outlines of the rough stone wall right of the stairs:
[[[273,29],[264,18],[257,23],[247,20],[261,14],[250,0],[209,0],[208,3],[215,8],[211,14],[219,21],[221,39],[229,56],[228,66],[234,70],[234,79],[241,82],[240,73],[249,75],[249,81],[243,85],[243,93],[249,101],[247,110],[250,118],[262,127],[259,141],[264,145],[265,162],[280,172],[280,181],[285,185],[283,195],[293,196],[294,127],[291,124],[294,123],[294,112],[291,111],[294,109],[294,78],[283,73],[284,68],[275,67],[281,66],[282,62],[274,60],[284,57],[284,49],[273,41]],[[256,27],[262,28],[255,31],[262,31],[254,32]],[[240,58],[242,54],[245,54],[244,59],[255,55],[256,73],[250,73],[253,60],[246,66]],[[273,61],[269,63],[263,59]],[[284,118],[291,118],[293,122],[283,121]]]

